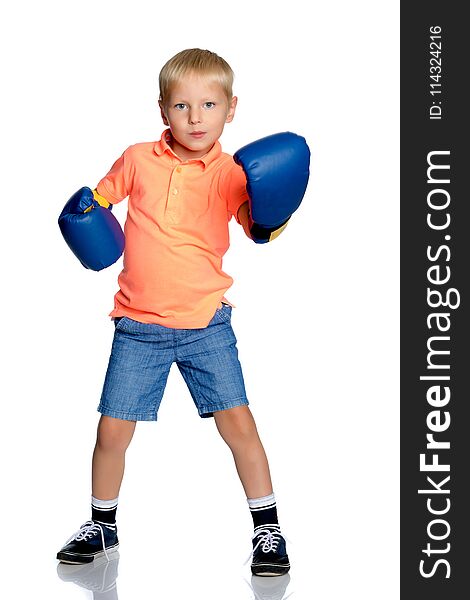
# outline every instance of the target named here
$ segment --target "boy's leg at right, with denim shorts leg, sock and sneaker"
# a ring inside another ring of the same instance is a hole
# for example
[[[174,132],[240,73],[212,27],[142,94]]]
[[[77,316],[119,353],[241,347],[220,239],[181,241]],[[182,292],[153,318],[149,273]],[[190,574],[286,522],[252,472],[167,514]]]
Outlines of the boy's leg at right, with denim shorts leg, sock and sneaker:
[[[231,306],[222,304],[206,328],[177,332],[176,364],[199,415],[214,416],[235,459],[255,527],[252,573],[281,575],[289,570],[289,559],[277,520],[268,461],[247,406],[231,312]]]

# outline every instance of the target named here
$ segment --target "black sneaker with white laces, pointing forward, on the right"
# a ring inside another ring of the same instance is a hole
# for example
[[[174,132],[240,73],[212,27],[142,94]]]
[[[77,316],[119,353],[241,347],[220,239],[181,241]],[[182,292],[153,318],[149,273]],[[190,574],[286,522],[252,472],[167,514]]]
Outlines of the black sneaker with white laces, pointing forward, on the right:
[[[286,540],[279,525],[260,525],[252,538],[251,572],[262,577],[284,575],[290,569]]]

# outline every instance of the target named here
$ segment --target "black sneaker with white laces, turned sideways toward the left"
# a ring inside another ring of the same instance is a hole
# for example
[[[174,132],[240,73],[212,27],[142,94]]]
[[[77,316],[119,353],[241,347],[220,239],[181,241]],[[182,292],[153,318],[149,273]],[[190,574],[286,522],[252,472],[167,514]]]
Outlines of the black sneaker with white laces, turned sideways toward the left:
[[[99,556],[115,552],[119,547],[116,525],[87,521],[69,538],[57,553],[61,562],[80,565]]]

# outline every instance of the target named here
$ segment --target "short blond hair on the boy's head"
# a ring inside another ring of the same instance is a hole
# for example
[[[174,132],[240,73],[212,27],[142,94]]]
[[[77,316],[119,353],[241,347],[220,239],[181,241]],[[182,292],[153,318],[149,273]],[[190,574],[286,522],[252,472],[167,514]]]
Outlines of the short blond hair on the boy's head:
[[[202,75],[219,83],[230,104],[233,97],[232,86],[234,78],[234,73],[230,65],[222,57],[215,54],[215,52],[201,50],[200,48],[182,50],[163,65],[158,77],[160,102],[163,104],[166,102],[172,86],[181,81],[188,73]]]

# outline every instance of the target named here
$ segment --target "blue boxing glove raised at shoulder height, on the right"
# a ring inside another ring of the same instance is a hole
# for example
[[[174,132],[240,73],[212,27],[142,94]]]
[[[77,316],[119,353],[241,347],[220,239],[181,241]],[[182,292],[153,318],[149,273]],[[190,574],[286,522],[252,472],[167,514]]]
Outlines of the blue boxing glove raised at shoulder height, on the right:
[[[257,244],[270,242],[304,197],[310,165],[307,142],[289,131],[275,133],[243,146],[233,159],[246,175],[251,238]]]

